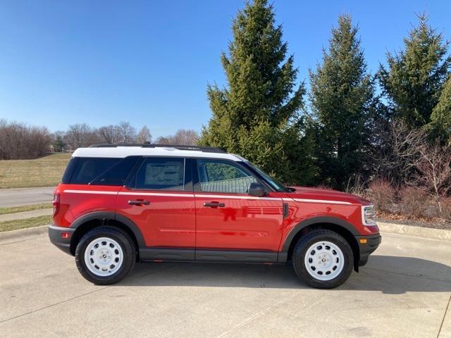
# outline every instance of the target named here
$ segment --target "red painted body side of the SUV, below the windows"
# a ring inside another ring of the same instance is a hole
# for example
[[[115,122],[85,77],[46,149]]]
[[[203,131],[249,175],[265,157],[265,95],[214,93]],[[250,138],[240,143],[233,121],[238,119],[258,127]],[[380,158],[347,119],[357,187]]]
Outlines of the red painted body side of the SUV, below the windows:
[[[109,211],[130,218],[140,228],[146,246],[259,251],[280,251],[298,223],[317,216],[345,220],[362,235],[378,232],[377,226],[362,224],[362,206],[369,201],[332,190],[295,189],[292,193],[271,192],[264,198],[251,198],[247,194],[59,184],[55,189],[54,224],[70,227],[86,213]],[[130,200],[149,201],[149,205],[130,205]],[[204,202],[219,202],[224,207],[204,207]],[[283,203],[288,204],[285,219]]]

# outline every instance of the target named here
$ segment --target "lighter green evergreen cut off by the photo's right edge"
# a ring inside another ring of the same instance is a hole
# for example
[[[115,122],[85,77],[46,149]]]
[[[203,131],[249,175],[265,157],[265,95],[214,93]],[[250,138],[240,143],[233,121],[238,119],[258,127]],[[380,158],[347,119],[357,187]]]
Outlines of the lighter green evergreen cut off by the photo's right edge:
[[[443,86],[438,104],[431,114],[431,129],[436,137],[451,143],[451,75]]]

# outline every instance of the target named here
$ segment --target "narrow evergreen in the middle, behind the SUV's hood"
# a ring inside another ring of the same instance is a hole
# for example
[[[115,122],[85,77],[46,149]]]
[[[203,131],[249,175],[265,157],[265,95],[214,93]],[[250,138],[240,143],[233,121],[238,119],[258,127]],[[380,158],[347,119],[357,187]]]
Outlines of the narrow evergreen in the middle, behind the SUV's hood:
[[[315,152],[323,183],[343,188],[362,173],[369,146],[373,80],[349,15],[340,15],[322,62],[310,70]]]

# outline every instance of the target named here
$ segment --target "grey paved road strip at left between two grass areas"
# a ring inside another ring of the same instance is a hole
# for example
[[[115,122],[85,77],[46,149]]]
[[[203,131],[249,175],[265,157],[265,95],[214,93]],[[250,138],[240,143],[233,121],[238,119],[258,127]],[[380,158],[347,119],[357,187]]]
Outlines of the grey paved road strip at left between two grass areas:
[[[51,202],[55,187],[0,189],[0,208]]]

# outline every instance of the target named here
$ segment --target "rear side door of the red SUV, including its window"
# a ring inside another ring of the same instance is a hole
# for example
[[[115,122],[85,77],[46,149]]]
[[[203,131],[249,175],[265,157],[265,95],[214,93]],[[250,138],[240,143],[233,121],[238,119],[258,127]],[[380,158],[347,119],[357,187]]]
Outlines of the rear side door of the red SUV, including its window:
[[[189,164],[185,158],[144,157],[118,193],[116,212],[130,218],[144,237],[147,251],[141,253],[142,258],[194,259],[195,211]]]

